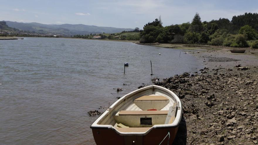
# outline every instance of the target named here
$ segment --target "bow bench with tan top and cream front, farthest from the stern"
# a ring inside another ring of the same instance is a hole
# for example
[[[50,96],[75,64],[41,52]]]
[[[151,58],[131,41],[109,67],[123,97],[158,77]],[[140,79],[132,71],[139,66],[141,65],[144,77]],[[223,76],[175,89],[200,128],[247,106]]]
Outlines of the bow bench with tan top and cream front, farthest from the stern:
[[[149,95],[139,97],[135,99],[133,103],[135,103],[135,105],[137,105],[142,110],[161,110],[169,103],[169,99],[161,95]]]

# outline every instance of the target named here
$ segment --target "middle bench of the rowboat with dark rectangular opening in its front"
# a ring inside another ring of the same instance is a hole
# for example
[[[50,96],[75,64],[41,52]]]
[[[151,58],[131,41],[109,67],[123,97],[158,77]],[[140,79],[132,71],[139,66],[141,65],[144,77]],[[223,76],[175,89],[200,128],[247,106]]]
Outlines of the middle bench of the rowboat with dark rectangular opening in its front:
[[[114,115],[114,119],[119,124],[127,127],[152,127],[156,124],[164,124],[168,110],[122,110]]]

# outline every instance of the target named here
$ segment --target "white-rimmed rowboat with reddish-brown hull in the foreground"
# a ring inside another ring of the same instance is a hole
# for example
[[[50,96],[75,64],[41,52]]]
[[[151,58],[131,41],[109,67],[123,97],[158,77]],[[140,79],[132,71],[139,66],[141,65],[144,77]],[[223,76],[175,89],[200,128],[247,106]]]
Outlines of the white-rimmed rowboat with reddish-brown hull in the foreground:
[[[172,144],[182,104],[172,91],[151,85],[124,95],[90,128],[97,145]]]

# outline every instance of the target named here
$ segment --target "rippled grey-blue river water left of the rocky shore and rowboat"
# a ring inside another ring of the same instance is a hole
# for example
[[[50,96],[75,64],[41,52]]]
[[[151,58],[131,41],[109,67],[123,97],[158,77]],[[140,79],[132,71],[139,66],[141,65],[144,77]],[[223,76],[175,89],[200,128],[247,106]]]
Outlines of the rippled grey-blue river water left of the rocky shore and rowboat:
[[[161,55],[158,55],[158,54]],[[152,60],[153,76],[150,76]],[[125,68],[125,62],[129,66]],[[65,38],[0,41],[1,144],[94,144],[89,110],[153,77],[202,68],[179,50]],[[123,83],[127,86],[123,86]]]

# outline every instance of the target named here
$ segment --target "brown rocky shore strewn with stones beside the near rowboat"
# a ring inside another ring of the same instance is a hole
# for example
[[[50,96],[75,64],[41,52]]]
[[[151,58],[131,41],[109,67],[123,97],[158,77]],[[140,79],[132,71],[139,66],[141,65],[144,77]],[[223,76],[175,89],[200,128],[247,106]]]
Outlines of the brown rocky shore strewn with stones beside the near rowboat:
[[[258,66],[200,71],[154,79],[183,103],[186,126],[179,126],[174,144],[257,144]]]

